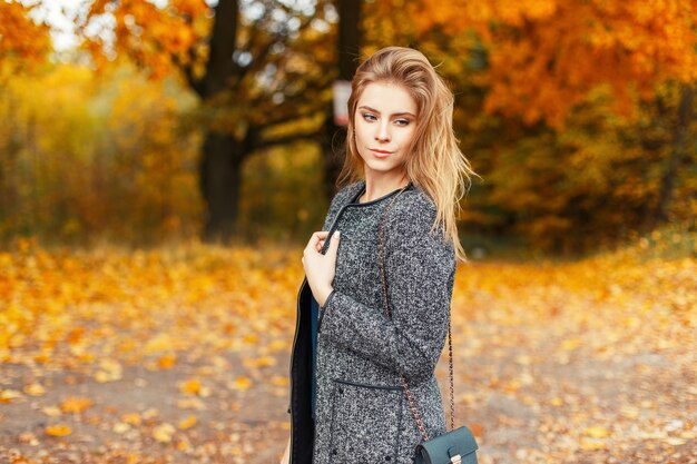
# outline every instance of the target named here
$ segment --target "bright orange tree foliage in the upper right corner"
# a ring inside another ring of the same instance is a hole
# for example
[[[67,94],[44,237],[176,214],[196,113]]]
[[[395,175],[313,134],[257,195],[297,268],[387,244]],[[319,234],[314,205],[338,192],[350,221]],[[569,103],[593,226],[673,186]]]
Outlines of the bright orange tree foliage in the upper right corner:
[[[488,112],[544,120],[562,128],[571,108],[609,83],[616,110],[631,116],[627,88],[642,98],[666,79],[697,79],[697,4],[691,1],[518,2],[424,0],[414,18],[422,32],[473,29],[489,53]]]

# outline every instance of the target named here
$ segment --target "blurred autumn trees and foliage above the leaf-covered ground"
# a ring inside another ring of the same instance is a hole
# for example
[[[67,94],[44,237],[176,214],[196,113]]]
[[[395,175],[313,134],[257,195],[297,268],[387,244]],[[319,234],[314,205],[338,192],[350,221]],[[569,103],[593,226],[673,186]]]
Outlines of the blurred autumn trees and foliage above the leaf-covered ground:
[[[465,249],[695,229],[691,1],[0,6],[3,244],[304,243],[343,160],[332,83],[387,45],[457,95]]]

